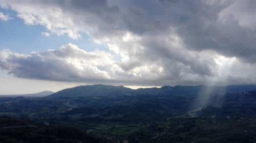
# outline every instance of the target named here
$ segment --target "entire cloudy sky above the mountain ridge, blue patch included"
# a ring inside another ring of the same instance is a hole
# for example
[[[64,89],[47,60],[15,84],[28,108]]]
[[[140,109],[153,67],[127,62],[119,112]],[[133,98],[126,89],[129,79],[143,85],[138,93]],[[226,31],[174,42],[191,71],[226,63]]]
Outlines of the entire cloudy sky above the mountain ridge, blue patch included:
[[[0,0],[0,94],[256,83],[256,1]]]

